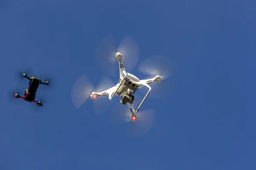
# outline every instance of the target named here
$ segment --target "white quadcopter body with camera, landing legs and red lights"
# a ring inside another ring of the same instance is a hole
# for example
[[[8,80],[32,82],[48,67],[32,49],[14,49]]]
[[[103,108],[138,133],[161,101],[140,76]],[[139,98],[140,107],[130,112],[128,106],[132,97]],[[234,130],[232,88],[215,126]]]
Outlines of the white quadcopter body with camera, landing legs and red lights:
[[[120,54],[119,52],[116,53],[116,59],[119,62],[119,72],[120,72],[120,79],[118,84],[102,92],[92,92],[90,96],[92,99],[97,99],[100,96],[108,95],[110,100],[112,100],[115,95],[120,96],[122,98],[120,102],[123,105],[128,104],[129,110],[131,111],[131,120],[133,122],[136,122],[137,120],[136,113],[140,110],[145,99],[147,98],[148,94],[151,91],[151,87],[148,84],[150,84],[151,82],[161,82],[162,77],[156,75],[152,79],[140,80],[134,75],[126,72],[124,64],[122,62],[122,54]],[[135,111],[133,106],[134,94],[138,89],[140,89],[143,86],[148,88],[148,93],[145,95],[144,99],[142,100],[137,110]]]

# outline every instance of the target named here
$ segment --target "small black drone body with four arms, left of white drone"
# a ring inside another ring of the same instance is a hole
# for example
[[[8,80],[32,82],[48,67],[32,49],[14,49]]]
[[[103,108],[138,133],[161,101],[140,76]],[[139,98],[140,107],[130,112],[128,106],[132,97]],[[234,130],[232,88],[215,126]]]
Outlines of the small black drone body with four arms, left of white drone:
[[[42,82],[38,77],[27,77],[24,73],[23,77],[29,79],[29,88],[26,89],[24,96],[19,96],[15,94],[15,98],[25,99],[28,102],[35,102],[36,104],[43,106],[40,101],[35,101],[36,91],[38,89],[39,84],[49,85],[49,82]]]

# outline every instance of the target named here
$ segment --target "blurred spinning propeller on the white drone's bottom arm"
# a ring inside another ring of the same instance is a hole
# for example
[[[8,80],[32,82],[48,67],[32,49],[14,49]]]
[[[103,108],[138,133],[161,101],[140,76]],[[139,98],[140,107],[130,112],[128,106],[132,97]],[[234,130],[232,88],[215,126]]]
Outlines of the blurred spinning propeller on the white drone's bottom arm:
[[[134,99],[134,109],[139,105],[139,102],[143,99],[142,96],[136,95]],[[147,133],[154,124],[155,112],[153,109],[139,111],[136,113],[137,121],[131,121],[131,111],[128,109],[127,105],[122,105],[121,103],[116,103],[113,106],[111,112],[111,118],[113,123],[127,122],[127,133],[131,137],[138,137]]]

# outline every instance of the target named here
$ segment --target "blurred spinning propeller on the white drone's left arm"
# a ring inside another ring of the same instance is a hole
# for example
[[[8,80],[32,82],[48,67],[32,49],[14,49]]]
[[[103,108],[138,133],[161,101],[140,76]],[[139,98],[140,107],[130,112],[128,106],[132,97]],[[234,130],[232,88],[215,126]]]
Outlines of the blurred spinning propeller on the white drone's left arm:
[[[90,79],[86,75],[82,75],[73,85],[71,98],[73,104],[76,108],[80,108],[87,99],[90,98],[90,95],[93,91],[105,91],[108,88],[114,86],[114,83],[108,77],[102,77],[99,84],[95,88],[91,83]],[[106,109],[111,106],[111,101],[108,96],[99,97],[96,100],[93,100],[93,106],[95,114],[103,113]]]

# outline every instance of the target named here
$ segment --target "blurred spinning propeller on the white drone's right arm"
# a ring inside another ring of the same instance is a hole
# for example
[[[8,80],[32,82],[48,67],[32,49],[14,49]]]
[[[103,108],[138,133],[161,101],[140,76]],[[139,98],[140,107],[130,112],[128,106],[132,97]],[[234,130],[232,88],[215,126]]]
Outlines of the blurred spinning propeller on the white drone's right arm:
[[[162,76],[163,80],[160,83],[151,83],[152,88],[149,98],[165,98],[169,95],[170,89],[173,85],[170,81],[166,81],[167,78],[173,74],[173,63],[170,58],[165,56],[151,56],[145,59],[138,66],[138,71],[149,77],[143,79],[151,79],[156,75]],[[146,93],[148,89],[141,88],[141,91]]]

